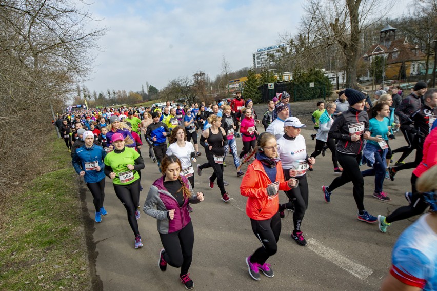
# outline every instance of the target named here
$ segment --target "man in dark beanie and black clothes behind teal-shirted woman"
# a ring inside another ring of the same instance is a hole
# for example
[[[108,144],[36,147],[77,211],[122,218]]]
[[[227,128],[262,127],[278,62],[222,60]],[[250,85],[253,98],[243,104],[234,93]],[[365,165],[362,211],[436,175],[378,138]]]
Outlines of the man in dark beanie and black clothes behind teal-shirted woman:
[[[402,156],[398,160],[398,162],[394,164],[395,166],[401,166],[405,164],[405,158],[407,158],[409,154],[413,151],[414,133],[412,132],[412,129],[414,129],[414,126],[410,122],[408,122],[408,118],[411,114],[413,114],[422,106],[422,98],[423,95],[425,95],[427,89],[428,85],[423,81],[419,81],[414,85],[411,94],[408,95],[404,100],[402,100],[401,105],[399,105],[398,108],[396,108],[396,110],[394,111],[394,114],[399,116],[399,121],[401,123],[400,129],[402,134],[404,134],[405,140],[408,143],[407,146],[392,150],[393,154],[396,152],[402,152]]]

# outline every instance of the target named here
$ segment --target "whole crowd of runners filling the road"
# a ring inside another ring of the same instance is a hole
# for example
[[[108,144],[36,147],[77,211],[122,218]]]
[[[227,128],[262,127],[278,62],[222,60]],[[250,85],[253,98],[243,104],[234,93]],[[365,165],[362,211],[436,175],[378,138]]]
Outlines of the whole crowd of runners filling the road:
[[[168,101],[163,107],[76,110],[58,115],[55,126],[71,154],[75,171],[84,177],[93,196],[95,222],[101,222],[102,216],[108,214],[104,207],[105,179],[108,177],[117,198],[126,208],[135,248],[143,246],[137,220],[140,218],[140,191],[143,190],[141,170],[145,168],[144,159],[147,158],[142,157],[146,151],[141,148],[147,144],[149,158],[157,164],[156,171],[162,174],[150,186],[143,206],[145,214],[157,221],[163,245],[158,266],[162,271],[168,264],[180,267],[180,279],[187,289],[194,287],[188,273],[194,242],[190,204],[204,200],[202,192],[194,191],[195,175],[201,177],[204,170],[212,168],[209,187],[214,188],[216,182],[225,203],[233,199],[225,188],[229,186],[224,180],[226,163],[233,163],[234,174],[243,177],[239,191],[248,197],[246,213],[254,235],[262,244],[246,258],[246,263],[249,275],[260,280],[260,272],[267,277],[274,276],[267,260],[277,251],[285,210],[293,211],[291,237],[301,246],[307,244],[302,231],[309,197],[306,172],[316,170],[317,156],[325,156],[328,148],[332,155],[332,173],[340,176],[330,185],[321,185],[326,203],[335,200],[334,192],[341,186],[352,182],[357,219],[378,222],[382,232],[395,221],[422,214],[431,205],[431,214],[405,232],[420,232],[419,223],[428,225],[430,231],[423,233],[426,243],[434,247],[419,249],[419,255],[408,249],[403,250],[402,257],[393,253],[390,277],[383,288],[391,290],[390,286],[401,283],[437,289],[434,192],[437,187],[435,182],[428,181],[427,184],[421,179],[423,174],[429,177],[433,171],[431,180],[436,180],[437,89],[428,90],[426,83],[418,82],[404,99],[399,92],[397,88],[392,94],[378,90],[372,102],[366,92],[347,88],[337,92],[339,98],[335,102],[318,102],[317,110],[312,114],[317,132],[311,135],[311,139],[315,139],[315,150],[311,155],[300,134],[307,125],[292,116],[290,94],[285,91],[268,101],[268,109],[260,118],[262,121],[255,113],[252,100],[243,100],[241,92],[237,92],[232,100],[208,106],[203,103],[184,106]],[[265,132],[260,132],[259,123]],[[395,138],[393,133],[399,129],[407,146],[392,150],[389,140]],[[237,138],[242,140],[241,149],[237,148]],[[199,144],[204,148],[207,162],[194,167],[196,158],[202,154]],[[414,149],[414,162],[405,163],[404,159]],[[393,155],[399,152],[402,156],[393,163]],[[242,167],[245,163],[249,164],[246,171]],[[393,167],[389,166],[391,163]],[[369,168],[362,170],[366,164]],[[363,177],[375,177],[373,197],[390,201],[383,184],[386,179],[393,181],[395,174],[405,169],[413,169],[411,192],[405,193],[406,206],[387,217],[371,215],[364,207]],[[279,190],[285,192],[287,203],[279,204]],[[408,241],[413,238],[401,237],[406,241],[405,245],[414,247],[415,244]],[[400,247],[405,248],[404,245]],[[423,258],[429,259],[426,263],[429,269],[423,266]],[[418,268],[409,260],[422,260],[422,267]]]

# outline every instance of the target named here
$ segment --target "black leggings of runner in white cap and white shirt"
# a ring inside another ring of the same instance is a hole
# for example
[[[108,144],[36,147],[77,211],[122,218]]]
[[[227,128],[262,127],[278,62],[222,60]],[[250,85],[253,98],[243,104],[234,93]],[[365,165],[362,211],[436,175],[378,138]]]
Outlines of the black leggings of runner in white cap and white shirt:
[[[294,213],[293,213],[293,225],[294,230],[301,231],[302,220],[304,219],[305,211],[308,209],[308,182],[307,175],[299,177],[290,177],[290,170],[284,169],[285,180],[295,178],[299,180],[299,187],[285,191],[288,199],[293,201]]]

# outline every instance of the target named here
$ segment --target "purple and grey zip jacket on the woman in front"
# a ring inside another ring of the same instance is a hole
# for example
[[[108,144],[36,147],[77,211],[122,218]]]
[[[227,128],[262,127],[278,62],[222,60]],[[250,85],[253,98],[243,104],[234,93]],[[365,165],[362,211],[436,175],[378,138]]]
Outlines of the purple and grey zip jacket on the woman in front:
[[[193,192],[188,179],[184,176],[181,177],[185,186],[191,191],[190,203],[198,203],[197,195]],[[164,187],[164,176],[162,176],[150,186],[143,211],[145,214],[156,218],[157,229],[160,234],[170,234],[171,232],[181,230],[191,221],[187,204],[188,199],[185,199],[184,204],[179,207],[176,199]],[[172,220],[168,219],[167,216],[170,209],[175,209]]]

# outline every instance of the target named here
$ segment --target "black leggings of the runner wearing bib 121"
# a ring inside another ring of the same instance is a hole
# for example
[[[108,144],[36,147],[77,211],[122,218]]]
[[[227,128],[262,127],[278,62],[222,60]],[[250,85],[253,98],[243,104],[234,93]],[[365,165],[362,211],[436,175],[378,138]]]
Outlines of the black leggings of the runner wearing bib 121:
[[[343,186],[352,181],[353,198],[355,199],[358,211],[364,211],[364,179],[360,170],[360,154],[346,154],[339,151],[335,152],[337,160],[343,167],[342,176],[335,178],[328,186],[330,191]]]

